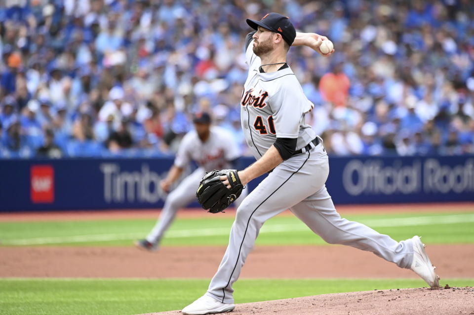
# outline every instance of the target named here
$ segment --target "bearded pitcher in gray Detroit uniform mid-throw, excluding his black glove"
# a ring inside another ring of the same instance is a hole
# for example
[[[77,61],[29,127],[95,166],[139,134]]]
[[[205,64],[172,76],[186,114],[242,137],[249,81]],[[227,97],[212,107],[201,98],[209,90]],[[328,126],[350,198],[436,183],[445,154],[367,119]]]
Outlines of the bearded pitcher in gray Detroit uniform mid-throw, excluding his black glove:
[[[248,20],[257,30],[247,36],[249,65],[241,100],[245,140],[257,162],[238,172],[243,185],[270,172],[237,209],[229,246],[206,294],[183,309],[183,314],[223,313],[235,307],[232,284],[238,279],[263,223],[290,209],[327,243],[354,246],[410,268],[438,286],[430,259],[418,236],[396,242],[358,222],[341,218],[325,182],[328,156],[322,140],[305,123],[313,108],[295,74],[286,64],[289,46],[307,45],[320,53],[324,36],[296,33],[288,17],[270,13]],[[224,184],[227,177],[222,176]],[[229,186],[228,186],[229,187]]]

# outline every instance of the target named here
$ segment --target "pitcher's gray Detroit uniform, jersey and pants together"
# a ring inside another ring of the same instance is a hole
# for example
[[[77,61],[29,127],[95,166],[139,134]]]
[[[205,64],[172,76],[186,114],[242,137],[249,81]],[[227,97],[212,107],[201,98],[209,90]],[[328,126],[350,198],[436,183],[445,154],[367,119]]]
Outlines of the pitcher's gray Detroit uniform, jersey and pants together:
[[[297,138],[300,149],[313,140],[314,131],[305,124],[305,114],[313,104],[304,96],[293,71],[284,68],[261,73],[261,65],[247,47],[250,66],[241,99],[241,119],[245,139],[259,159],[276,138]],[[413,261],[411,239],[397,242],[388,235],[341,218],[334,208],[325,182],[329,163],[322,140],[315,147],[279,164],[241,203],[232,225],[229,246],[206,295],[221,303],[234,303],[233,283],[238,279],[265,221],[289,209],[331,244],[368,250],[399,267],[410,268]]]

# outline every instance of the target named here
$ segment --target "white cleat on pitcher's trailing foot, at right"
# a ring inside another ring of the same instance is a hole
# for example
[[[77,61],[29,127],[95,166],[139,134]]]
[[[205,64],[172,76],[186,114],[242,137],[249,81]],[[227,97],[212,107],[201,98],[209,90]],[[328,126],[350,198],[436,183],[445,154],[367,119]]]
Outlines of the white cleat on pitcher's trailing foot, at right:
[[[410,269],[426,281],[432,288],[439,287],[439,277],[435,274],[436,267],[431,263],[426,254],[425,245],[419,236],[414,236],[413,240],[413,262]]]

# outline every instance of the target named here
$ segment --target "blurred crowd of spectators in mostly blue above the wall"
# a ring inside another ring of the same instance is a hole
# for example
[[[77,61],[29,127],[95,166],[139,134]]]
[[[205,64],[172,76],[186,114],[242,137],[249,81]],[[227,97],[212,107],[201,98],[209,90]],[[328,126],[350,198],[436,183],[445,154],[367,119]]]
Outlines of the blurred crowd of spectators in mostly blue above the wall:
[[[0,157],[173,154],[208,111],[247,154],[245,18],[326,35],[288,63],[329,154],[474,153],[471,0],[0,0]]]

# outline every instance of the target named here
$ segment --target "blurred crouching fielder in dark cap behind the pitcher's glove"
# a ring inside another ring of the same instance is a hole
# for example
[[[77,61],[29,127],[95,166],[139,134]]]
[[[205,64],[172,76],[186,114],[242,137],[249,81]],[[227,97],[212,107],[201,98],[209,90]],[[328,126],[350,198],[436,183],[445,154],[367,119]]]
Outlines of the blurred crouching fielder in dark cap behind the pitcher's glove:
[[[160,182],[161,189],[169,192],[171,185],[180,177],[192,160],[199,167],[168,195],[153,230],[146,239],[135,242],[139,248],[151,251],[158,249],[158,245],[173,222],[176,212],[196,199],[199,180],[206,171],[236,167],[236,160],[240,156],[240,152],[232,136],[223,128],[211,126],[211,117],[206,112],[197,113],[193,122],[195,130],[187,133],[181,141],[174,165],[166,178]],[[236,207],[247,195],[246,189],[242,195],[237,199]]]

